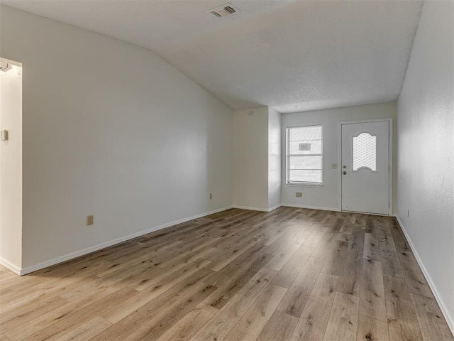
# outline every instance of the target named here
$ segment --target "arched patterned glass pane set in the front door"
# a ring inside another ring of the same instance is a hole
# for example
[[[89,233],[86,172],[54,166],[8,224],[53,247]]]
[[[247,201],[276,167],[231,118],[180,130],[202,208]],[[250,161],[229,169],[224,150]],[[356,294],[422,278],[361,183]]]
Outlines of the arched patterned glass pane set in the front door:
[[[362,167],[377,171],[377,136],[367,133],[353,136],[353,171]]]

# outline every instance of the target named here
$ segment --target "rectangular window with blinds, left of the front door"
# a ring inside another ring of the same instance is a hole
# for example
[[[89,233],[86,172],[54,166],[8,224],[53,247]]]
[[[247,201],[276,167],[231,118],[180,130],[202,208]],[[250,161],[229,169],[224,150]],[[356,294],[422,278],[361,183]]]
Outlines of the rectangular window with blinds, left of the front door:
[[[287,183],[322,183],[321,126],[287,128]]]

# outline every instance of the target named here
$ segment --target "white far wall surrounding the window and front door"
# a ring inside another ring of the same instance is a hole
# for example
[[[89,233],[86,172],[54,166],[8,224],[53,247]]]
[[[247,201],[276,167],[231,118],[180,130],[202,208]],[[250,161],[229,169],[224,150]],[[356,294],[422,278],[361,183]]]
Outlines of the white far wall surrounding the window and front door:
[[[340,210],[338,169],[332,169],[331,163],[338,163],[338,124],[343,121],[362,119],[393,118],[396,124],[396,102],[361,105],[337,109],[317,110],[314,112],[295,112],[282,114],[282,205],[316,207],[327,210]],[[323,185],[287,185],[285,179],[286,129],[289,126],[323,126]],[[395,131],[394,141],[396,141]],[[396,160],[395,145],[394,161]],[[338,165],[339,167],[339,165]],[[393,211],[395,212],[395,174],[393,172]],[[295,197],[302,192],[302,197]]]

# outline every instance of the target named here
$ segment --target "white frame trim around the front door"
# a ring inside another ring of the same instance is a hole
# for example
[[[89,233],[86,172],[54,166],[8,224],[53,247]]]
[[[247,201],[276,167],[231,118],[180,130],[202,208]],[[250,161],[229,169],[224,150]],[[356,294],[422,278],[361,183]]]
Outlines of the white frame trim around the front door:
[[[389,172],[388,172],[388,200],[389,200],[389,210],[388,215],[392,216],[392,186],[393,186],[393,164],[392,164],[392,140],[393,140],[393,131],[392,131],[392,124],[393,119],[362,119],[359,121],[343,121],[338,123],[338,202],[339,202],[339,211],[343,212],[342,210],[342,126],[343,124],[356,124],[356,123],[373,123],[373,122],[388,122],[389,124],[389,151],[388,151],[388,164],[389,164]],[[348,212],[348,211],[344,211]],[[373,214],[373,213],[368,213]]]

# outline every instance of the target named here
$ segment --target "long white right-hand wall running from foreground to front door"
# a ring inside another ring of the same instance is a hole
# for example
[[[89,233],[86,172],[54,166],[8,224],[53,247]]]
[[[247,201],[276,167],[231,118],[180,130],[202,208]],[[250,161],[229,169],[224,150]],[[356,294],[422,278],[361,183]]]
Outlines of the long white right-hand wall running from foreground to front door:
[[[454,332],[453,32],[454,2],[425,1],[398,102],[397,212]]]

